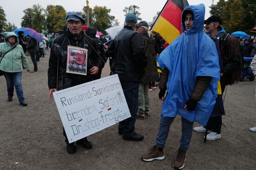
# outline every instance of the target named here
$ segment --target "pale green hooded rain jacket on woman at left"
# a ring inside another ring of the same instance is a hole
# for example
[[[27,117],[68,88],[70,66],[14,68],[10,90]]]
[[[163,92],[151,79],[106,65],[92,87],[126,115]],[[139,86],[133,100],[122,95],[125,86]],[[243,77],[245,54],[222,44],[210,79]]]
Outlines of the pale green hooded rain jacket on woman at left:
[[[16,37],[16,43],[13,45],[8,42],[8,38],[10,36]],[[14,46],[16,47],[3,57],[3,55]],[[0,44],[0,58],[2,59],[0,63],[0,70],[2,71],[9,73],[23,71],[22,62],[27,70],[30,69],[27,57],[22,49],[22,46],[19,45],[19,38],[14,32],[8,32],[7,36],[5,37],[5,43]]]

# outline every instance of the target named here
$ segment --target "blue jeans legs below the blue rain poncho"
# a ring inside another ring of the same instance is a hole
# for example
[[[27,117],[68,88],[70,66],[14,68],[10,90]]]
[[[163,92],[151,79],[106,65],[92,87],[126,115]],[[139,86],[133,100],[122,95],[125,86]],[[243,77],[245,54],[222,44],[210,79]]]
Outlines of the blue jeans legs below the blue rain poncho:
[[[170,125],[174,119],[175,117],[163,117],[161,115],[159,131],[156,137],[156,145],[158,147],[163,147],[165,145]],[[182,151],[187,151],[189,149],[189,143],[193,132],[193,123],[194,122],[182,118],[182,138],[180,140],[180,148]]]

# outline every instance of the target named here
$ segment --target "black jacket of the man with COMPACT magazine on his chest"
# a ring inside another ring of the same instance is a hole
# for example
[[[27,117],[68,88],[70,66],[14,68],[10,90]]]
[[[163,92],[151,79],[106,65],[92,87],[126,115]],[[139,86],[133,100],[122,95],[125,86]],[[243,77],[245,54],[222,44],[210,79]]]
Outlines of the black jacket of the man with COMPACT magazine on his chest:
[[[85,36],[84,33],[81,31],[80,36],[78,38],[74,38],[68,30],[64,32],[64,34],[61,34],[54,43],[59,44],[61,48],[66,52],[66,56],[64,57],[64,60],[61,60],[59,58],[59,64],[58,64],[58,57],[59,55],[56,55],[58,51],[54,51],[54,49],[51,50],[50,58],[49,58],[49,68],[48,68],[48,87],[49,88],[57,88],[57,73],[59,72],[58,80],[60,80],[60,77],[65,75],[65,78],[71,79],[71,86],[79,85],[85,82],[92,81],[92,75],[90,75],[89,69],[91,69],[93,66],[97,66],[100,69],[102,69],[102,63],[101,59],[98,57],[96,52],[93,50],[92,46],[94,44],[94,41],[92,38]],[[69,44],[70,43],[70,44]],[[88,49],[88,70],[87,70],[87,76],[82,75],[76,75],[76,74],[68,74],[66,73],[66,67],[67,67],[67,46],[77,46],[81,48]],[[95,46],[94,46],[95,49]],[[59,68],[58,68],[59,65]],[[65,69],[65,71],[62,71]],[[57,72],[58,70],[58,72]],[[59,83],[59,81],[58,81]],[[59,85],[58,85],[59,87]]]

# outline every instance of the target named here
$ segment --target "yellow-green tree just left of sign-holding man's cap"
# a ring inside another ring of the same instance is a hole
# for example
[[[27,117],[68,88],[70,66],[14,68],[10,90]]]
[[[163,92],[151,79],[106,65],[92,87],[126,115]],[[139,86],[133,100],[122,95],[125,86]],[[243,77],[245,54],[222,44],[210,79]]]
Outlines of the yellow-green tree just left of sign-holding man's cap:
[[[47,5],[46,10],[46,23],[48,32],[62,30],[66,25],[66,10],[60,5]]]

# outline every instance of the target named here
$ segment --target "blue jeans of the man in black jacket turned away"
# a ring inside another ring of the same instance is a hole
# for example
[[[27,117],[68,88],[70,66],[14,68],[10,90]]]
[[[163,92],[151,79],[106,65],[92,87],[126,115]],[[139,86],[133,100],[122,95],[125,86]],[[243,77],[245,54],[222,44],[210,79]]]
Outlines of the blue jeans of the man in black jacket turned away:
[[[139,105],[139,82],[120,81],[125,99],[128,104],[131,117],[119,122],[118,129],[123,132],[124,137],[130,136],[134,132],[134,125],[137,119]]]

